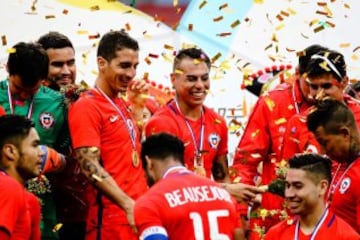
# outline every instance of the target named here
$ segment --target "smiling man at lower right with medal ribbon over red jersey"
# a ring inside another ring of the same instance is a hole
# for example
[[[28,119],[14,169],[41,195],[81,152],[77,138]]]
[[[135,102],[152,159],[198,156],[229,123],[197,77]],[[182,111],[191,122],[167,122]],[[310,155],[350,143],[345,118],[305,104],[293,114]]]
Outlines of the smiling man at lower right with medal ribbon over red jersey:
[[[270,228],[265,240],[360,239],[360,235],[328,209],[326,193],[331,183],[331,161],[317,154],[289,160],[285,201],[295,217]]]

